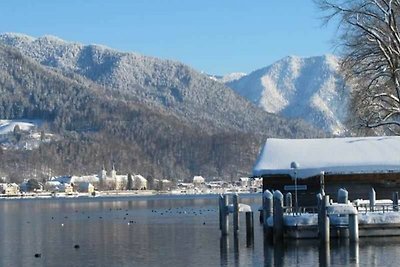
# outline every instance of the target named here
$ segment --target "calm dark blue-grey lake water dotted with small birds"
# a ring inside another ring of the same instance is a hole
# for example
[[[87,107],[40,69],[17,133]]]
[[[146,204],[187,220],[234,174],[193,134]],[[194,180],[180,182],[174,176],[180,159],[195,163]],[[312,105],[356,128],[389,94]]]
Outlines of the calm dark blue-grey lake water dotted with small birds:
[[[257,210],[261,198],[240,202]],[[216,195],[0,200],[0,266],[400,265],[400,238],[264,244],[258,214],[253,244],[244,216],[237,238],[221,238],[217,208]]]

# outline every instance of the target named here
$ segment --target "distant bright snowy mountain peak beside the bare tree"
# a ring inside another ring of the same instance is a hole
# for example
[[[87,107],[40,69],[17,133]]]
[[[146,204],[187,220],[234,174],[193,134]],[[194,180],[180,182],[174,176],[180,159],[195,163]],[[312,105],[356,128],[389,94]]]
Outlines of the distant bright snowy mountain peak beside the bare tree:
[[[333,55],[289,56],[226,83],[267,112],[302,118],[332,134],[343,134],[349,88]]]

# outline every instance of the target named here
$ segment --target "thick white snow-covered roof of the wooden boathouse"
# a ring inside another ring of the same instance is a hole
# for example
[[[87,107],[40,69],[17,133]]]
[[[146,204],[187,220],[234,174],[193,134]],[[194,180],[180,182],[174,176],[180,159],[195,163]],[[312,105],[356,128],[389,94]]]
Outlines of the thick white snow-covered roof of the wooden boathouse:
[[[287,174],[298,178],[327,174],[400,172],[400,136],[325,139],[268,139],[253,176]]]

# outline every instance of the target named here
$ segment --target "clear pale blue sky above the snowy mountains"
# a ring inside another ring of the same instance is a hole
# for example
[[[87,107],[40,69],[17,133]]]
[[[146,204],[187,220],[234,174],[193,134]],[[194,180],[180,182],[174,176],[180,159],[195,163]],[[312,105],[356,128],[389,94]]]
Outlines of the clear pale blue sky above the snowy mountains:
[[[335,26],[312,0],[4,0],[0,33],[54,35],[249,73],[285,56],[335,54]]]

